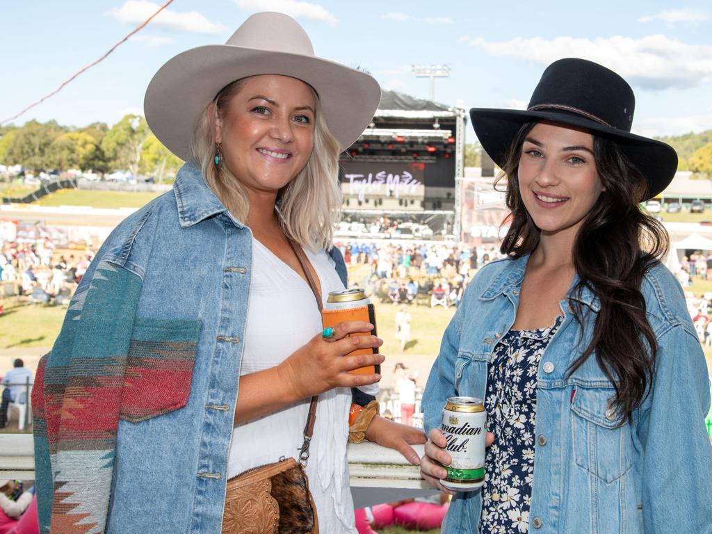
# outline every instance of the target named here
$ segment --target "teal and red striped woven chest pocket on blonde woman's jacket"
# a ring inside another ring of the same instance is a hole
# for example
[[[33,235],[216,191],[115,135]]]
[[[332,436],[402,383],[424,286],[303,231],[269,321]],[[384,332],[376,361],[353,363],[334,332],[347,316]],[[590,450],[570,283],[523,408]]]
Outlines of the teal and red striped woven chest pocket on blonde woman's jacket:
[[[199,320],[135,320],[121,419],[138,423],[187,404],[199,335]]]

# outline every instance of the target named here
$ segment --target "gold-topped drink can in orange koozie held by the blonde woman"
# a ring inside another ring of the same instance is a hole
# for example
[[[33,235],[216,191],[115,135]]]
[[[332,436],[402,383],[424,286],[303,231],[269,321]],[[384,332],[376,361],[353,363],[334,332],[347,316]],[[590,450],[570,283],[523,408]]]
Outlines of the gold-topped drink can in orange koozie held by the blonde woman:
[[[371,323],[373,325],[371,332],[360,332],[349,335],[377,335],[376,314],[371,300],[362,289],[330,291],[326,304],[324,305],[324,310],[321,313],[321,318],[324,328],[333,327],[335,324],[344,321],[364,321],[365,323]],[[357,349],[353,352],[349,352],[349,355],[356,354],[378,354],[378,347]],[[356,372],[360,375],[372,375],[373,373],[380,375],[381,366],[368,365],[367,367],[359,367],[350,372]]]

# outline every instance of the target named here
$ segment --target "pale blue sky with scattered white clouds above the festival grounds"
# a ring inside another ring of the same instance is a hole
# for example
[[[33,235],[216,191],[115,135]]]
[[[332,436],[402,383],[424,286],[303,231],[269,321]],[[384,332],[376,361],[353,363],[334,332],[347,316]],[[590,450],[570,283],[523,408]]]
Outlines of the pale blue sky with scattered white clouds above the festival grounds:
[[[0,3],[0,120],[58,87],[162,1]],[[525,107],[548,63],[578,56],[624,76],[637,97],[633,129],[678,135],[712,128],[709,1],[174,0],[167,13],[60,93],[14,121],[120,120],[140,112],[155,71],[176,53],[224,43],[256,11],[295,16],[319,56],[362,66],[383,88],[427,98],[411,66],[446,63],[435,99]],[[473,139],[473,135],[468,135]]]

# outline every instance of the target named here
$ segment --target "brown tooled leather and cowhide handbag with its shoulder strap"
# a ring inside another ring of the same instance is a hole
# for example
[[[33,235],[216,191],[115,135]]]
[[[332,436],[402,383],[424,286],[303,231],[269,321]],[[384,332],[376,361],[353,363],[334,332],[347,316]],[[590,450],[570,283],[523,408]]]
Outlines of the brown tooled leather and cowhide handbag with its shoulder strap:
[[[289,240],[314,293],[319,310],[321,297],[303,251]],[[316,421],[318,395],[312,397],[299,461],[281,458],[273,464],[248,469],[227,481],[221,534],[318,534],[319,520],[304,468]]]

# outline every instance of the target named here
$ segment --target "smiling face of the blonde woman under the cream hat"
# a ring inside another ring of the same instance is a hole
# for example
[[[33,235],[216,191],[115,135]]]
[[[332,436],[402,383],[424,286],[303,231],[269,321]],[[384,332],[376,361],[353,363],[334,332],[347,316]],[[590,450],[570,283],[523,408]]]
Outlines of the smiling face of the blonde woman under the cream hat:
[[[316,98],[301,80],[245,78],[215,122],[224,164],[250,192],[276,194],[305,167],[314,147]]]

